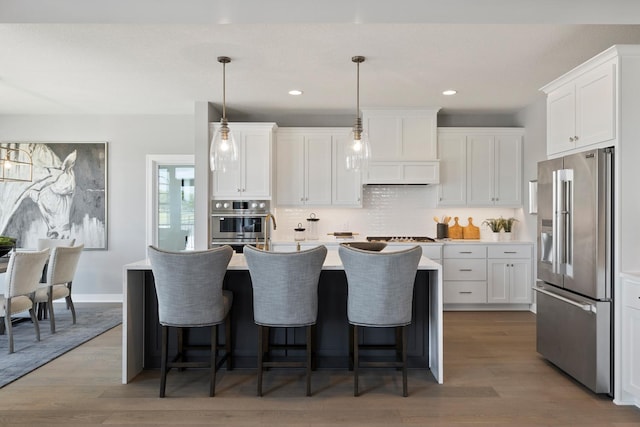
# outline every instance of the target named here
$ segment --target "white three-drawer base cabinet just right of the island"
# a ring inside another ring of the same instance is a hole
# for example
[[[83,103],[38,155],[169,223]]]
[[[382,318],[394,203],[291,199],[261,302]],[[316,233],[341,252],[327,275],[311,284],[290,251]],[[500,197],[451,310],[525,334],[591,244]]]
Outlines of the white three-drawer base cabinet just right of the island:
[[[487,246],[445,244],[443,248],[443,302],[487,302]]]

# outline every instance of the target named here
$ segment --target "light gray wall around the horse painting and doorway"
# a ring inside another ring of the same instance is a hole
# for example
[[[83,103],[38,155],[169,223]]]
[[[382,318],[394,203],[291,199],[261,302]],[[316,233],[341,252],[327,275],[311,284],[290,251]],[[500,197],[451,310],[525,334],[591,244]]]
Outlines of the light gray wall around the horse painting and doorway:
[[[122,266],[146,257],[145,158],[193,154],[193,116],[0,116],[2,141],[108,142],[108,250],[84,251],[76,301],[122,298]]]

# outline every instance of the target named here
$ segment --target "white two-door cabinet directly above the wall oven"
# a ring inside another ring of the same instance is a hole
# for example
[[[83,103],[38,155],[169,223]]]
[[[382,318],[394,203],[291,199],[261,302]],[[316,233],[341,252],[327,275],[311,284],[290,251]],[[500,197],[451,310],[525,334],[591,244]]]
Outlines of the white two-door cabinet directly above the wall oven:
[[[211,124],[211,135],[219,126]],[[238,145],[238,167],[211,173],[212,197],[270,200],[275,123],[229,123],[229,128]]]

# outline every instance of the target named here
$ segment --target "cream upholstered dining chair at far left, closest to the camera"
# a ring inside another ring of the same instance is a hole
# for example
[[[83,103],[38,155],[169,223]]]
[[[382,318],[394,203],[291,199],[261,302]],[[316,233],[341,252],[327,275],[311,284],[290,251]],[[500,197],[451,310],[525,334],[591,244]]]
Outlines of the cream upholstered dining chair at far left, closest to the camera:
[[[0,317],[4,317],[4,329],[9,338],[9,353],[13,353],[13,314],[28,310],[36,329],[36,339],[40,341],[40,327],[34,311],[33,295],[38,288],[48,257],[49,249],[11,253],[7,271],[4,273],[4,294],[0,296]]]

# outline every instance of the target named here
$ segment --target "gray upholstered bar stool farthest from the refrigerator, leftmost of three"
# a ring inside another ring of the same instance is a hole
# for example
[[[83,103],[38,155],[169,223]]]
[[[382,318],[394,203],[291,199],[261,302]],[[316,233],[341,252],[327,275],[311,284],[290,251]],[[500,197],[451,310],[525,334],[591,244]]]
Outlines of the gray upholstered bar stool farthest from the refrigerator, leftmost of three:
[[[153,246],[148,250],[158,296],[158,320],[162,325],[160,397],[165,396],[167,372],[171,368],[209,368],[209,396],[215,395],[216,371],[227,362],[232,368],[231,318],[233,294],[222,289],[233,255],[230,246],[195,252],[168,252]],[[218,325],[225,323],[225,354],[218,358]],[[208,362],[186,361],[185,351],[201,346],[183,342],[183,328],[211,328]],[[178,354],[168,361],[169,328],[177,328]]]

